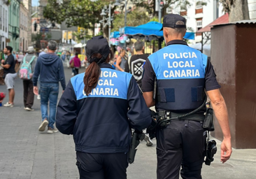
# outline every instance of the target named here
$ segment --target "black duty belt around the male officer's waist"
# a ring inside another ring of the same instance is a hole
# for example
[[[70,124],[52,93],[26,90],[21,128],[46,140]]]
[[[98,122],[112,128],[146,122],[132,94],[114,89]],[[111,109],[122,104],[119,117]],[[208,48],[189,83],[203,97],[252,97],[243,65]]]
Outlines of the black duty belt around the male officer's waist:
[[[204,122],[204,114],[191,114],[187,117],[183,117],[183,115],[187,115],[187,113],[173,113],[168,110],[159,110],[159,116],[163,117],[164,120],[173,119],[173,120],[194,120],[199,122]]]

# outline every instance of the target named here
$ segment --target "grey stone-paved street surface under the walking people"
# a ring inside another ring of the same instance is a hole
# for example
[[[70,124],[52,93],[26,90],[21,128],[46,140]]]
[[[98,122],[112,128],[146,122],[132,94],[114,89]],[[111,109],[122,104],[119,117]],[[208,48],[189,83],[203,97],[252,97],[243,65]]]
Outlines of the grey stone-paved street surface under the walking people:
[[[80,69],[82,72],[83,69]],[[65,67],[66,81],[71,78],[71,69]],[[60,88],[59,97],[62,89]],[[0,92],[6,86],[0,85]],[[0,107],[0,179],[69,179],[79,178],[76,168],[76,153],[72,136],[41,133],[40,102],[34,99],[34,111],[24,110],[22,80],[15,80],[15,106]],[[6,99],[3,103],[6,103]],[[252,136],[253,137],[253,136]],[[156,151],[154,145],[147,147],[145,141],[138,146],[134,164],[127,169],[128,179],[155,179]],[[256,150],[235,150],[226,164],[220,163],[218,153],[211,166],[203,166],[206,179],[256,178]]]

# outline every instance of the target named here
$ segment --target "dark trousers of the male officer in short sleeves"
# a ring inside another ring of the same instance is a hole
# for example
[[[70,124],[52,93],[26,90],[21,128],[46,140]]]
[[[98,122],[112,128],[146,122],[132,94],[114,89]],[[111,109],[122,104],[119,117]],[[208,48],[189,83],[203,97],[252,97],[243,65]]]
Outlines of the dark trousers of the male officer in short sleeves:
[[[206,131],[201,125],[172,120],[157,131],[157,179],[178,179],[179,173],[184,179],[201,179],[206,146]]]

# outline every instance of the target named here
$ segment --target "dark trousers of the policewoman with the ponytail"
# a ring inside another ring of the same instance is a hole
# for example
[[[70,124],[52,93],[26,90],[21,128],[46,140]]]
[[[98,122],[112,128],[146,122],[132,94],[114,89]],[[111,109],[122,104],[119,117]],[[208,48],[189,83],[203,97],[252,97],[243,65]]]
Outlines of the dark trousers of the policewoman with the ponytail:
[[[80,179],[127,179],[127,154],[76,152]]]

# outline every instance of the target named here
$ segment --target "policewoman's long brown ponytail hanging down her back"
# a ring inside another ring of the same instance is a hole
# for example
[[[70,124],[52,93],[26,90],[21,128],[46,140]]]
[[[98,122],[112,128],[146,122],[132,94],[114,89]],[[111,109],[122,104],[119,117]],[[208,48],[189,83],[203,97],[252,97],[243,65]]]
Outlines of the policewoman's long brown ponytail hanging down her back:
[[[101,59],[101,55],[95,53],[92,55],[92,58]],[[92,62],[88,68],[85,70],[85,77],[83,78],[83,83],[85,83],[85,94],[88,96],[92,90],[97,87],[97,83],[99,80],[99,76],[101,73],[101,68],[97,64],[97,62]]]

